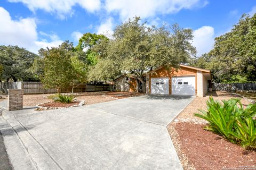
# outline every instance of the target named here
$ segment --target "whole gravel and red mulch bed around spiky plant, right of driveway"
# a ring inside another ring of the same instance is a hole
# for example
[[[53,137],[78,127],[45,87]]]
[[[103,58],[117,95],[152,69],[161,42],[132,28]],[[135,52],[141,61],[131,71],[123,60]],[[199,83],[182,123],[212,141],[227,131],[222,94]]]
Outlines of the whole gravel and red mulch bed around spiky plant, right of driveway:
[[[205,121],[195,117],[198,109],[206,110],[206,100],[241,98],[230,92],[210,92],[205,97],[196,97],[167,129],[184,169],[256,169],[256,152],[226,141],[217,134],[203,129]],[[241,98],[244,107],[251,100]],[[245,166],[245,167],[243,167]],[[253,167],[254,166],[254,167]]]

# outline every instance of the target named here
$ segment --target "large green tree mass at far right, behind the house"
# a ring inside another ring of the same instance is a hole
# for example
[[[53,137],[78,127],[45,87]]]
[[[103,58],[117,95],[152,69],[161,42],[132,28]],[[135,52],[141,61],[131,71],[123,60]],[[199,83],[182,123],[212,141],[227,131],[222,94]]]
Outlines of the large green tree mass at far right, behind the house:
[[[211,70],[215,82],[255,82],[255,39],[256,14],[244,14],[230,32],[215,38],[214,48],[195,65]]]

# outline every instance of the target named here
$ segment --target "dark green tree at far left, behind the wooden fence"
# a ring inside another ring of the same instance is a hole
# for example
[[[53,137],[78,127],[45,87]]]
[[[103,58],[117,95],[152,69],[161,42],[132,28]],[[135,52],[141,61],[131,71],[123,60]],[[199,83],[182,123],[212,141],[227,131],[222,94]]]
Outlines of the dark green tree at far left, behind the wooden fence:
[[[1,80],[33,81],[34,76],[29,68],[36,57],[36,54],[29,52],[25,48],[0,46],[0,65],[3,67]]]

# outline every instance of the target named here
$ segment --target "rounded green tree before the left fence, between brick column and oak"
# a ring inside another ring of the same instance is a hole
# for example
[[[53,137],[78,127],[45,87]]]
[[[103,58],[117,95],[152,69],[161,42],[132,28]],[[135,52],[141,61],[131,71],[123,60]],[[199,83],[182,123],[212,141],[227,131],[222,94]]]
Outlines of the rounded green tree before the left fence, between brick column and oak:
[[[66,41],[59,47],[51,47],[39,50],[37,64],[43,66],[39,69],[39,78],[45,88],[61,88],[75,86],[78,83],[86,82],[87,63],[84,59],[84,52],[76,52],[73,43]]]

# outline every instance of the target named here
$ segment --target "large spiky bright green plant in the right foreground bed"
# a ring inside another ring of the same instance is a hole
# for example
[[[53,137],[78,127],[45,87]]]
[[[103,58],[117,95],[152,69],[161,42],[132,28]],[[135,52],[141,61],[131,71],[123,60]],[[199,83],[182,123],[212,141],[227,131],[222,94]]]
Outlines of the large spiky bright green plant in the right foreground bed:
[[[250,104],[245,109],[240,99],[222,100],[223,105],[212,97],[206,101],[207,111],[195,113],[207,122],[206,130],[220,134],[233,143],[245,148],[256,148],[256,105]]]

